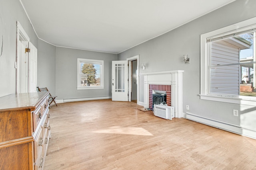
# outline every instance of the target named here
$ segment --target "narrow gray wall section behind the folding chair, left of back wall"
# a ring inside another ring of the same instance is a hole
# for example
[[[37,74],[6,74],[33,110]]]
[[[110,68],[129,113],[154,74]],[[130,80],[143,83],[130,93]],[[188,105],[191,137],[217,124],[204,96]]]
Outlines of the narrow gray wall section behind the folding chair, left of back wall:
[[[47,87],[52,96],[56,96],[56,47],[38,39],[37,85]]]

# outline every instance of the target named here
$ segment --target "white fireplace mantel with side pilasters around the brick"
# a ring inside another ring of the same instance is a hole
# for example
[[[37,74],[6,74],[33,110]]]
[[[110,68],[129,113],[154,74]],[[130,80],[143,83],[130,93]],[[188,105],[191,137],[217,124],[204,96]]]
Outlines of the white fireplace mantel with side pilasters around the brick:
[[[171,85],[171,104],[174,117],[182,117],[182,73],[184,70],[142,73],[144,76],[144,107],[149,107],[149,84]]]

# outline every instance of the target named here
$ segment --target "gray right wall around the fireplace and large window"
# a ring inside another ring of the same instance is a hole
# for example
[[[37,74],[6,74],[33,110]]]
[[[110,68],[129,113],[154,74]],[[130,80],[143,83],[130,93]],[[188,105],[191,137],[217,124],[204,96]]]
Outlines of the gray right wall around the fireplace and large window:
[[[184,70],[183,111],[211,119],[256,129],[255,107],[200,100],[200,35],[243,20],[256,17],[255,0],[236,0],[218,10],[191,21],[168,33],[142,43],[118,54],[118,60],[140,55],[140,73]],[[182,57],[188,54],[190,64],[184,64]],[[143,101],[143,76],[140,76],[140,102]],[[240,116],[233,116],[238,109]],[[254,122],[254,123],[253,123]]]

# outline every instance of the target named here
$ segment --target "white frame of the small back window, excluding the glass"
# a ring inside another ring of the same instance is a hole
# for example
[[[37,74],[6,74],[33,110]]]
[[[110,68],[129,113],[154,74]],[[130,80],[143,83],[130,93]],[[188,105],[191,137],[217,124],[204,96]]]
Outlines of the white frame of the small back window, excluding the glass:
[[[81,86],[81,64],[80,63],[90,63],[90,64],[100,64],[100,86]],[[104,89],[104,61],[94,60],[94,59],[77,59],[77,90],[88,90],[88,89]]]

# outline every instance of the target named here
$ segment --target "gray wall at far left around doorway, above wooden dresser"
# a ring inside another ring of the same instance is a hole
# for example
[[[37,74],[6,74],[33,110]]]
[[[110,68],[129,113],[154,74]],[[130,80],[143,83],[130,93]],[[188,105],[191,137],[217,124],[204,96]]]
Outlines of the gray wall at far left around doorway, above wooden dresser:
[[[19,0],[0,1],[0,36],[3,35],[3,49],[0,57],[0,96],[16,93],[16,21],[19,21],[37,48],[38,38]]]

